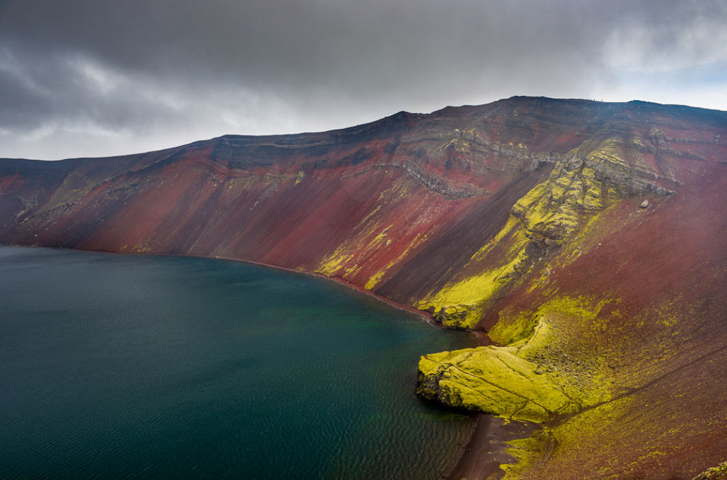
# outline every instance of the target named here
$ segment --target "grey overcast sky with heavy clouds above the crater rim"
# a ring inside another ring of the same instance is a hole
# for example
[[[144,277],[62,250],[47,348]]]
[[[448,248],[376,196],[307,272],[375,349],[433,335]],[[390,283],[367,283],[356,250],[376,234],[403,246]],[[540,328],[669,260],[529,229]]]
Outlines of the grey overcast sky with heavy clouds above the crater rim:
[[[0,0],[0,157],[321,131],[513,95],[727,110],[727,1]]]

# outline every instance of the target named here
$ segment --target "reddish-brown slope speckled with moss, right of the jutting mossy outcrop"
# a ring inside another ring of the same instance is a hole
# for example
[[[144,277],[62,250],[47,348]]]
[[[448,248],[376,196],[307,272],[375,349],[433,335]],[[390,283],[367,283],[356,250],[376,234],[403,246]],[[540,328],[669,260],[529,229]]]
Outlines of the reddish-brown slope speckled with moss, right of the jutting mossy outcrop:
[[[628,408],[609,411],[610,421],[588,412],[555,420],[555,441],[567,447],[528,478],[691,479],[725,460],[727,217],[717,206],[727,201],[727,163],[689,164],[675,195],[649,197],[647,209],[641,197],[616,205],[598,231],[574,239],[574,260],[551,263],[546,285],[515,289],[483,321],[562,295],[614,300],[598,330],[573,327],[568,351],[612,359],[614,403]],[[559,438],[559,426],[570,433]],[[578,428],[587,434],[574,446]]]

